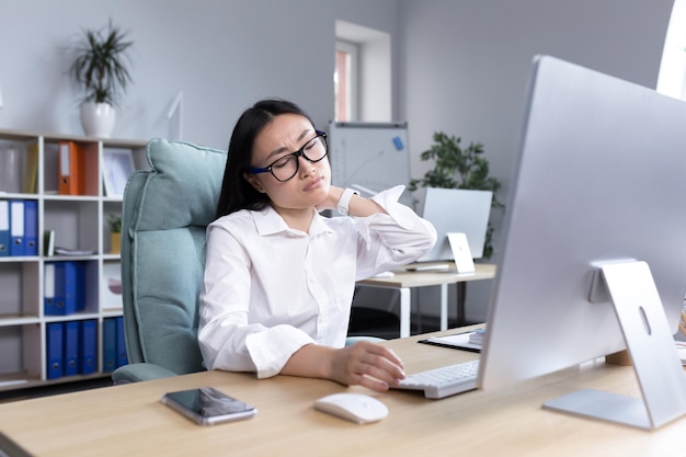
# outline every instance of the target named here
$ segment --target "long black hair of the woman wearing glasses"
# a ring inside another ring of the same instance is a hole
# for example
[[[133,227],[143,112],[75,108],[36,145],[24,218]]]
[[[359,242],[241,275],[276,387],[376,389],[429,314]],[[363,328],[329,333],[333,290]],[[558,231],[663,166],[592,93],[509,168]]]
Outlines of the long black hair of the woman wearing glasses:
[[[216,217],[229,215],[240,209],[261,210],[270,204],[266,194],[258,192],[243,178],[252,160],[252,147],[255,137],[281,114],[298,114],[306,117],[312,128],[315,123],[298,105],[286,100],[262,100],[245,110],[233,127],[229,153],[224,169],[221,194],[217,204]]]

